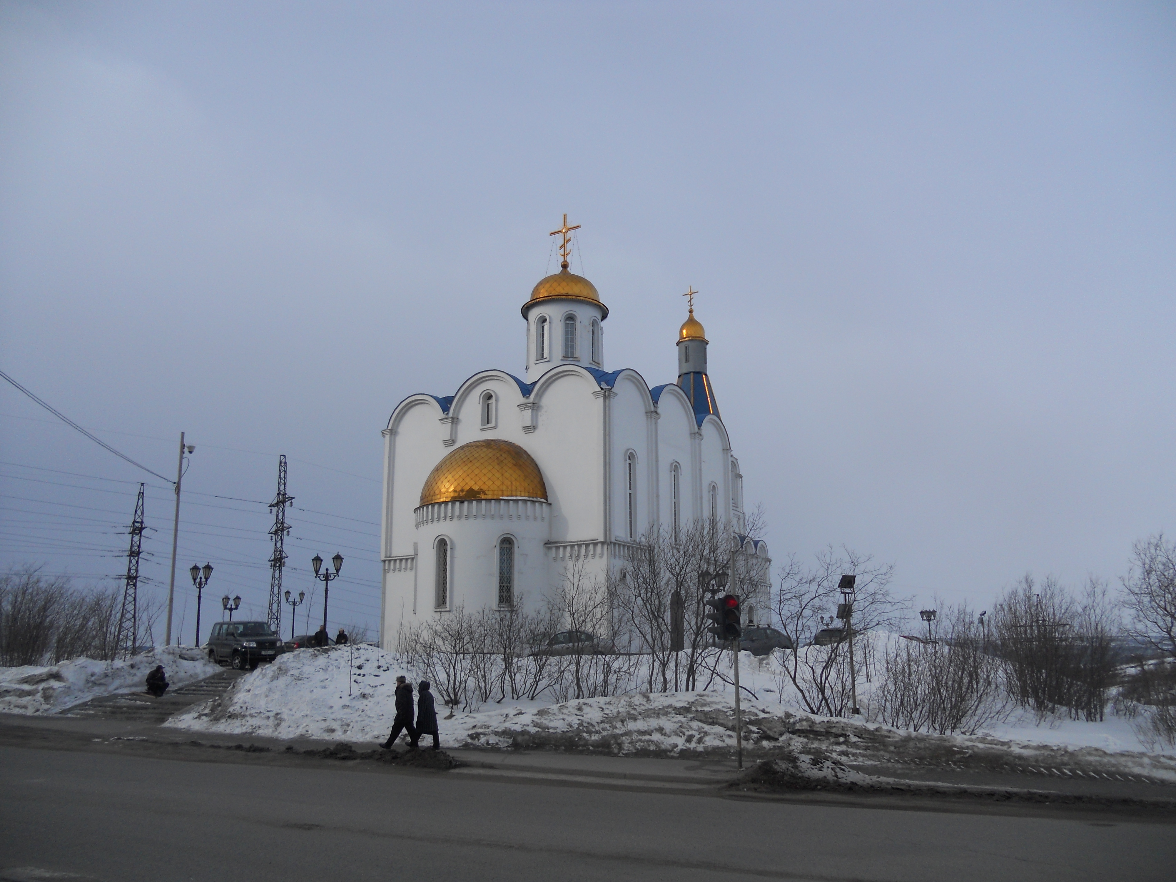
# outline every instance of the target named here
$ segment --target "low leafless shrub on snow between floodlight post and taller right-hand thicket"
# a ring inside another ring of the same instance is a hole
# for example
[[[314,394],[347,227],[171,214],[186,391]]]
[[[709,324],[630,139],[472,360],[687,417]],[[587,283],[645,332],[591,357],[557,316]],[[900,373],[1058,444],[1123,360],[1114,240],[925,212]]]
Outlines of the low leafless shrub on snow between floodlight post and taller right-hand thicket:
[[[1001,663],[967,604],[943,609],[937,621],[937,640],[900,639],[887,649],[874,713],[900,729],[970,735],[1007,715]]]

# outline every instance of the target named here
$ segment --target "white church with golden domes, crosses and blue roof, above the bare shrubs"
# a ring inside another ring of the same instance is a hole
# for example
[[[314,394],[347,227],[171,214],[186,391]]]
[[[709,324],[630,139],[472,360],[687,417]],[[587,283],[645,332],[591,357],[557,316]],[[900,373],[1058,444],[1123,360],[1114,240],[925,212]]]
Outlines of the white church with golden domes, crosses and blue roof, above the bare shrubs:
[[[401,401],[383,429],[380,637],[463,606],[541,602],[572,561],[614,575],[650,530],[710,517],[746,540],[739,462],[707,374],[707,339],[689,314],[677,381],[649,387],[609,370],[608,307],[561,270],[522,305],[527,375],[483,370],[452,395]]]

